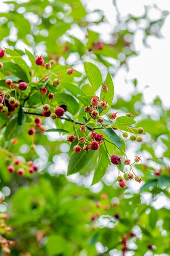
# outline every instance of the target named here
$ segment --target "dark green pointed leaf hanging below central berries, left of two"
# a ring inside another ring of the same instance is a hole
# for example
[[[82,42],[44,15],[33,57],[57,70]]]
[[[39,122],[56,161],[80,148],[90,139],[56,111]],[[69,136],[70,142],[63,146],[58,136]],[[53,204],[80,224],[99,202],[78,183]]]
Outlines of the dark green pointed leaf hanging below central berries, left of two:
[[[68,164],[67,176],[80,172],[91,161],[94,151],[90,150],[88,153],[82,150],[80,153],[74,153]]]

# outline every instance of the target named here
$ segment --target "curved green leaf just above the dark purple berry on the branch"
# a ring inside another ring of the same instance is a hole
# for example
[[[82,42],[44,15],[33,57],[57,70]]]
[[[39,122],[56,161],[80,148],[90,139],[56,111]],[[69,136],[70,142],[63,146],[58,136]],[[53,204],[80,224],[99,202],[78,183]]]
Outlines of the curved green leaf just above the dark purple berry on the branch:
[[[68,112],[75,115],[79,111],[79,103],[74,97],[66,93],[55,93],[55,99],[58,103],[67,105]]]

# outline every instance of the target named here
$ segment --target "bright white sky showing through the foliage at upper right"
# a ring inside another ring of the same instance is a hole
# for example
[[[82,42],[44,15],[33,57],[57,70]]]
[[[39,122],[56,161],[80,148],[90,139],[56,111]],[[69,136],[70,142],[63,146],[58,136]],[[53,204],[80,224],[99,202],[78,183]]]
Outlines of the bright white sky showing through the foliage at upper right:
[[[104,11],[106,18],[109,20],[110,28],[103,26],[102,33],[107,36],[110,29],[115,24],[115,9],[112,0],[87,0],[85,1],[87,8],[101,9]],[[168,0],[118,0],[117,7],[122,16],[133,14],[140,16],[144,13],[144,6],[157,5],[161,10],[170,12],[170,1]],[[158,11],[152,11],[150,17],[154,20],[159,17]],[[159,96],[166,108],[170,107],[169,93],[170,93],[170,77],[169,77],[169,59],[170,59],[170,15],[167,16],[162,27],[162,38],[150,37],[148,44],[150,48],[143,46],[141,41],[141,34],[135,36],[135,48],[139,51],[137,57],[132,57],[129,60],[129,71],[121,68],[114,78],[115,92],[119,95],[127,97],[133,91],[133,86],[130,82],[125,80],[137,78],[138,89],[144,93],[144,100],[151,103],[156,96]],[[147,88],[145,88],[147,86]]]

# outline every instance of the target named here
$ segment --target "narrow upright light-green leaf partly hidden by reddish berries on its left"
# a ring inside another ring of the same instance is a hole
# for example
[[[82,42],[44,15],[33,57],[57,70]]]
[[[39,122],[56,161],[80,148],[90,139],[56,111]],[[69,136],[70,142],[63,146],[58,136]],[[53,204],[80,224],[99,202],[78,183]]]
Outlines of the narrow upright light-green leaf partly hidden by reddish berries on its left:
[[[113,97],[114,97],[114,86],[113,86],[112,77],[109,73],[107,73],[104,84],[107,84],[109,91],[107,93],[104,93],[103,90],[101,90],[100,98],[101,100],[105,100],[109,104],[109,109],[110,109],[111,104],[113,102]],[[107,111],[109,111],[109,109],[107,109]]]

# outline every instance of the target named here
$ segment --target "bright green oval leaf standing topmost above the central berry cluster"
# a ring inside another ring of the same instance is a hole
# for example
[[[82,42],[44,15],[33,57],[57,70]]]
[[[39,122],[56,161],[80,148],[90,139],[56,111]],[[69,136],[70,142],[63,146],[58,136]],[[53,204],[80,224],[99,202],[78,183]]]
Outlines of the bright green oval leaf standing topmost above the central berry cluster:
[[[102,84],[102,75],[100,70],[93,63],[86,61],[84,62],[84,69],[92,88],[94,91],[98,90]]]

